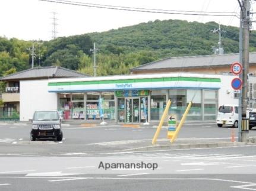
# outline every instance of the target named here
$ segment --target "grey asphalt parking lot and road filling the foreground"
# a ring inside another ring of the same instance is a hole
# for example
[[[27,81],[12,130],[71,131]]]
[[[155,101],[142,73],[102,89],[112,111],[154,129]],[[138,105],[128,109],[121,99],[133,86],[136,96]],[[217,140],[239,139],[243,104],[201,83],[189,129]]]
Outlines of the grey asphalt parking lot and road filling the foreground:
[[[132,151],[150,147],[156,127],[63,124],[62,141],[30,141],[31,124],[2,123],[0,128],[0,190],[256,189],[255,145]],[[232,131],[237,135],[237,129],[213,122],[187,122],[175,144],[230,142]],[[157,144],[170,144],[166,135],[164,127]],[[256,130],[249,135],[256,137]],[[101,162],[158,167],[105,170]]]

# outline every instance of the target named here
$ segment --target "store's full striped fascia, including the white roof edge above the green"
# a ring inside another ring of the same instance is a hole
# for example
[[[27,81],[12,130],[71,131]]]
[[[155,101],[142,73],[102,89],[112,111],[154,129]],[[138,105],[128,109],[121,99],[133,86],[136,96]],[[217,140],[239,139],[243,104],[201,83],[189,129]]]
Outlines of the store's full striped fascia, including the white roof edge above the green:
[[[220,78],[214,75],[188,73],[102,76],[72,79],[50,79],[48,92],[94,92],[139,89],[220,89]]]

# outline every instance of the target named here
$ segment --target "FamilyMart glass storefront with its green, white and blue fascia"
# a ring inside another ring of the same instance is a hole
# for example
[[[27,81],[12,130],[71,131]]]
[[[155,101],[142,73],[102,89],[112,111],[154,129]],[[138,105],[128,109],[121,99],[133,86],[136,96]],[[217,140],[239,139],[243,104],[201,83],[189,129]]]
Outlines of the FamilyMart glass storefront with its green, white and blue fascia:
[[[170,114],[180,119],[192,101],[187,120],[201,121],[216,119],[221,83],[220,76],[191,73],[103,76],[49,79],[48,92],[58,94],[65,119],[159,121],[171,99]]]

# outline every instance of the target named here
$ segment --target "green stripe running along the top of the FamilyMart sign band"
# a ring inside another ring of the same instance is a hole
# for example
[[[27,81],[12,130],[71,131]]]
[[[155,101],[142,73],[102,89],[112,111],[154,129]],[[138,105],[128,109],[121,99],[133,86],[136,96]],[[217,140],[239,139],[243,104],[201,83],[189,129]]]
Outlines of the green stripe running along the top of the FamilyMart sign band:
[[[148,79],[127,79],[127,80],[94,80],[80,82],[49,82],[48,86],[69,86],[69,85],[94,85],[94,84],[113,84],[113,83],[140,83],[140,82],[221,82],[220,78],[203,78],[203,77],[160,77]]]

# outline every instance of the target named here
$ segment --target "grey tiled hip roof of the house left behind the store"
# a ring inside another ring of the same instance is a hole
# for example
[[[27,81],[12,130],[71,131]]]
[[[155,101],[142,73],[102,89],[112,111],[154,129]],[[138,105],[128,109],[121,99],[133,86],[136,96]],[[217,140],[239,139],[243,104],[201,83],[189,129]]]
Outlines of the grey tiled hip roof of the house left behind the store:
[[[83,73],[60,66],[33,67],[28,70],[1,77],[0,80],[48,79],[59,77],[86,77]]]

